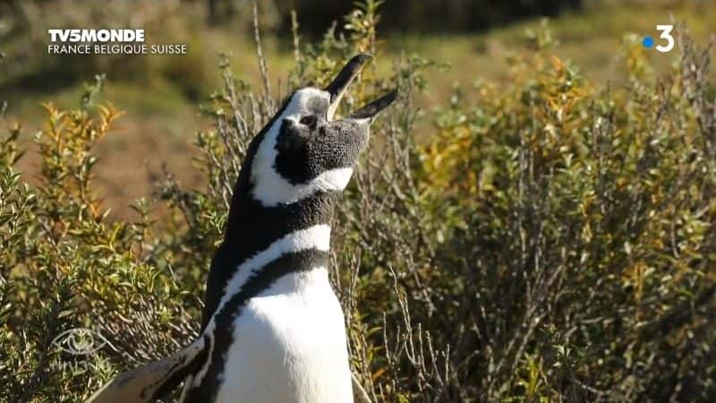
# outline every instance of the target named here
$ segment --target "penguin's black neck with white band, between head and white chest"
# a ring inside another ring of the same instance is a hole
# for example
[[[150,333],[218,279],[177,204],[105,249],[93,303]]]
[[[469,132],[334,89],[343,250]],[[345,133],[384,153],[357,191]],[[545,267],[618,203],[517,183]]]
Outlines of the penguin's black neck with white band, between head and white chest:
[[[224,241],[211,262],[202,330],[232,298],[243,304],[286,275],[328,268],[337,193],[267,207],[243,184],[234,189]]]

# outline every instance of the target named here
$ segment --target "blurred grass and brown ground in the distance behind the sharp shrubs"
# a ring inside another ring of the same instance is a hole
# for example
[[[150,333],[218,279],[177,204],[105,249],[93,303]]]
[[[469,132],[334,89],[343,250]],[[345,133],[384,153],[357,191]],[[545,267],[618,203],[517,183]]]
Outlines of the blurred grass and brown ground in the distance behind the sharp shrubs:
[[[278,79],[293,65],[291,11],[297,12],[303,43],[315,42],[336,24],[345,31],[343,16],[351,2],[262,1],[260,23],[268,69]],[[430,112],[444,105],[456,86],[476,81],[508,81],[507,61],[529,51],[528,33],[539,30],[541,17],[550,16],[550,30],[559,42],[558,56],[575,62],[593,82],[619,85],[626,77],[618,47],[625,36],[655,35],[657,22],[686,21],[695,39],[705,40],[716,21],[709,0],[595,1],[388,1],[382,5],[378,68],[390,70],[401,54],[419,54],[449,70],[426,73],[430,82],[418,104]],[[48,28],[143,28],[149,43],[186,43],[186,56],[47,56]],[[107,99],[127,115],[98,150],[102,163],[99,181],[108,206],[127,217],[127,205],[150,191],[164,162],[183,183],[200,185],[193,174],[192,133],[208,123],[197,104],[220,83],[219,53],[232,56],[234,72],[256,86],[251,2],[244,0],[137,0],[81,2],[75,0],[0,1],[0,100],[13,99],[6,116],[30,130],[39,127],[43,109],[52,99],[71,107],[81,83],[96,73],[107,74]],[[647,56],[658,71],[669,58]],[[284,79],[284,81],[286,81]],[[474,100],[466,91],[467,100]],[[420,128],[429,136],[430,123]],[[116,152],[115,152],[116,151]],[[134,156],[126,166],[125,155]],[[21,167],[31,172],[37,159],[29,156]],[[132,186],[122,183],[132,178]]]

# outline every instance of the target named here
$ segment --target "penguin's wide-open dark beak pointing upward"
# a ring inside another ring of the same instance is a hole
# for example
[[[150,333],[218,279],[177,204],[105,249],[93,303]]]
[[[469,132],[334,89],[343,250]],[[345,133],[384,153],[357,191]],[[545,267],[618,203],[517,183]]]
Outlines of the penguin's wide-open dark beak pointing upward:
[[[328,120],[333,120],[333,116],[336,115],[338,104],[345,95],[345,91],[348,90],[348,86],[351,85],[354,78],[361,72],[362,66],[368,63],[372,58],[372,56],[365,54],[353,56],[351,60],[349,60],[348,63],[341,69],[336,78],[328,84],[328,87],[326,87],[326,91],[330,94]],[[379,99],[361,107],[348,117],[352,119],[372,120],[372,118],[378,115],[381,110],[393,103],[393,101],[396,100],[396,96],[397,90],[392,90]]]

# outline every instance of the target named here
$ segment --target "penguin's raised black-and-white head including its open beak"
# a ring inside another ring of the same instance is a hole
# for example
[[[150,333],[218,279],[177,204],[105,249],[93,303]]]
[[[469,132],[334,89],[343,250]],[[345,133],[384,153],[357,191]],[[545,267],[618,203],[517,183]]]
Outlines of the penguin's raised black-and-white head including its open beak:
[[[335,119],[338,103],[371,56],[354,56],[325,89],[305,87],[286,99],[254,141],[251,193],[265,206],[292,203],[317,192],[339,192],[368,142],[370,125],[396,99],[396,90]]]

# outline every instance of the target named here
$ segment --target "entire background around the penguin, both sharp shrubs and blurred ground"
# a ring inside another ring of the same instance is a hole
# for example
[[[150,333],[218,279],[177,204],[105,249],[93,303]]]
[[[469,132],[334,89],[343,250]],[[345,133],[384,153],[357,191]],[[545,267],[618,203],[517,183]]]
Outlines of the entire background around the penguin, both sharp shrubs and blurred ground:
[[[195,337],[246,142],[356,52],[345,109],[401,88],[334,226],[373,399],[716,400],[716,5],[404,3],[262,2],[268,86],[248,2],[0,3],[0,401],[79,401]],[[44,56],[48,27],[190,54]],[[111,346],[59,351],[77,327]]]

